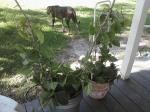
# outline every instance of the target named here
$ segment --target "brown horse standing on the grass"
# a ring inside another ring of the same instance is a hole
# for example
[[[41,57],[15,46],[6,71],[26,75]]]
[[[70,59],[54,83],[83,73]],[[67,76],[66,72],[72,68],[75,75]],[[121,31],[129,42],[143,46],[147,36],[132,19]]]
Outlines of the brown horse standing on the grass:
[[[77,27],[77,30],[79,31],[79,23],[80,21],[77,21],[76,12],[72,7],[60,7],[58,5],[55,6],[48,6],[47,7],[47,14],[52,16],[52,26],[54,27],[55,23],[55,17],[58,19],[61,19],[62,21],[62,29],[64,31],[64,23],[63,20],[65,19],[66,24],[68,26],[69,32],[70,32],[70,26],[69,22],[72,20],[74,24]]]

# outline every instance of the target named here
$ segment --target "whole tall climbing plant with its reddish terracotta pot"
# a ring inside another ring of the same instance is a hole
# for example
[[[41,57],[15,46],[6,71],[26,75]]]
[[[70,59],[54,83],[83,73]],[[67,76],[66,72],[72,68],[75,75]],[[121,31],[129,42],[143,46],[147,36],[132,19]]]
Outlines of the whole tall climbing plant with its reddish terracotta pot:
[[[95,38],[82,60],[84,89],[95,99],[104,98],[111,83],[119,77],[114,64],[117,59],[111,54],[110,48],[120,45],[118,34],[124,26],[124,18],[114,10],[114,3],[115,0],[110,8],[101,12],[96,26],[90,26],[90,33],[95,35]]]

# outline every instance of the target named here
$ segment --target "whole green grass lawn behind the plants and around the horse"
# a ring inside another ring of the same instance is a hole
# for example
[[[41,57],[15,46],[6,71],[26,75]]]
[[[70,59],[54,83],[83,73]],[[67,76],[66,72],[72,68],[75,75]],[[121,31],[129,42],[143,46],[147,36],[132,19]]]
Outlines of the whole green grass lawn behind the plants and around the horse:
[[[133,16],[134,4],[121,4],[115,6],[116,9],[123,9],[125,17],[131,20]],[[80,37],[88,39],[89,25],[93,19],[93,9],[78,7],[75,9],[80,20]],[[25,10],[31,21],[44,33],[45,41],[42,50],[48,53],[49,58],[54,58],[59,51],[67,47],[72,36],[60,32],[61,23],[56,23],[54,29],[49,25],[49,17],[43,10]],[[10,8],[0,8],[0,94],[10,96],[18,102],[24,102],[24,94],[32,86],[30,77],[32,76],[31,64],[23,66],[20,56],[20,48],[26,49],[28,57],[32,61],[34,56],[31,52],[31,43],[21,38],[16,26],[23,19],[20,11]],[[150,16],[146,21],[150,24]],[[130,25],[131,22],[128,24]],[[74,24],[71,24],[71,31],[76,35]],[[45,49],[45,46],[46,49]],[[47,54],[46,54],[47,55]],[[32,60],[31,60],[32,57]],[[35,56],[36,57],[36,56]],[[9,81],[14,76],[21,74],[25,76],[24,83],[10,84]]]

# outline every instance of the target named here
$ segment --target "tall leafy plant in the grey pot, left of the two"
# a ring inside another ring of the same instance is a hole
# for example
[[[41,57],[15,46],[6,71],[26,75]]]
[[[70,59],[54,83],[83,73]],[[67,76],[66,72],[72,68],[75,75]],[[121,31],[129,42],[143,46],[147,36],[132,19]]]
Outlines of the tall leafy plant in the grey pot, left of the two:
[[[41,49],[44,43],[44,34],[36,28],[35,24],[31,23],[30,18],[23,11],[18,1],[15,0],[15,2],[24,15],[24,19],[18,26],[18,33],[21,37],[29,40],[31,43],[29,54],[35,56],[34,60],[28,61],[25,65],[29,63],[33,65],[33,81],[36,84],[35,86],[41,88],[41,91],[39,91],[41,103],[43,106],[48,106],[51,112],[79,111],[82,98],[81,70],[73,71],[68,65],[54,62],[49,53],[45,53]],[[26,55],[28,53],[25,50],[22,52],[21,57],[27,60]]]

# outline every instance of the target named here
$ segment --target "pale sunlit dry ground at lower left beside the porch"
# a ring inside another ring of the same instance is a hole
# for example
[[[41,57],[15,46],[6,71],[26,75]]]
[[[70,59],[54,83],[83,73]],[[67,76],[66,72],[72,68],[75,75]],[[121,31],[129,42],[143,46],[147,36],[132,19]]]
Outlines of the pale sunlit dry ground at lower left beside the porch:
[[[24,103],[35,99],[37,97],[37,90],[32,89],[29,91],[29,94],[26,93],[33,86],[33,83],[29,80],[30,78],[25,77],[24,75],[13,75],[5,76],[0,79],[0,94],[10,97],[17,101],[18,103]]]

